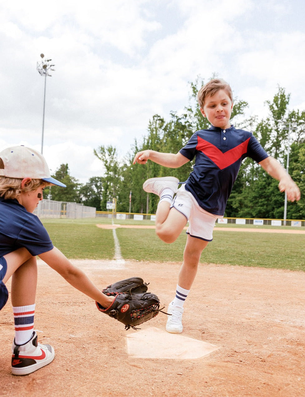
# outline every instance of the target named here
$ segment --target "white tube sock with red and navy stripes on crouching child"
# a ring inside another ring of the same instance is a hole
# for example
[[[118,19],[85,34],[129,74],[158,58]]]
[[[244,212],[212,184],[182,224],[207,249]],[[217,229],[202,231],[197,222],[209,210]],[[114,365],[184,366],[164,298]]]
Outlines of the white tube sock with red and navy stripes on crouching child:
[[[34,330],[35,304],[13,307],[15,322],[15,344],[27,343]]]

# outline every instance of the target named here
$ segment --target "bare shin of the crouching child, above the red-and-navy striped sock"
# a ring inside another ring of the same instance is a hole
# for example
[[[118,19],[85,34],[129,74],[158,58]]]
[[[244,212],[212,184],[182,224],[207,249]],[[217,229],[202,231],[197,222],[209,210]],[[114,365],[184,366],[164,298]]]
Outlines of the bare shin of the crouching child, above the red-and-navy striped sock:
[[[12,275],[12,306],[28,306],[35,304],[36,287],[37,262],[36,257],[32,256]]]

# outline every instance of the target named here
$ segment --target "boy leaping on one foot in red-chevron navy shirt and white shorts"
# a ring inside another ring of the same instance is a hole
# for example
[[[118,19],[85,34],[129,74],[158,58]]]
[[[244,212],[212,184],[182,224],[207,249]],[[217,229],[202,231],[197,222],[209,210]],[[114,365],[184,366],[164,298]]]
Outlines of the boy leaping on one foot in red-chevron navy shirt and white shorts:
[[[173,243],[189,222],[183,262],[178,275],[176,296],[169,304],[166,330],[181,333],[183,304],[195,279],[201,252],[213,239],[217,218],[223,218],[242,160],[250,157],[279,181],[290,201],[299,200],[299,188],[282,165],[269,156],[251,132],[230,123],[232,90],[222,79],[212,79],[197,95],[200,111],[211,123],[209,129],[195,132],[178,153],[142,150],[133,164],[151,160],[168,168],[181,167],[195,157],[188,179],[178,189],[175,177],[150,178],[144,191],[160,197],[156,211],[156,233],[165,243]],[[175,195],[175,198],[173,196]]]

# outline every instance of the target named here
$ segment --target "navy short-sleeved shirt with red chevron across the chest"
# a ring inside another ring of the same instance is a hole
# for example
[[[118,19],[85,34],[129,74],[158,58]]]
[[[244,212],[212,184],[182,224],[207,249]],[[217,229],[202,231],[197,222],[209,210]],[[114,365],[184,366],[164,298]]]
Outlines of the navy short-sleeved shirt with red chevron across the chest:
[[[180,153],[195,159],[185,189],[199,206],[211,214],[223,216],[242,160],[251,157],[261,162],[269,155],[251,132],[221,129],[213,125],[195,132]]]

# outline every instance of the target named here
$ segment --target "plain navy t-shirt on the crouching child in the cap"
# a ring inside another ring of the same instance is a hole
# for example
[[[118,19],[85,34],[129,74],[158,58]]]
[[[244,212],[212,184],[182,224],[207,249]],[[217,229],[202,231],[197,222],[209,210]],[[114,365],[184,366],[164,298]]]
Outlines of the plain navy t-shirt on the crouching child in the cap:
[[[33,256],[48,252],[52,241],[39,218],[17,200],[0,197],[0,256],[25,247]]]

